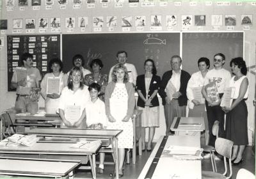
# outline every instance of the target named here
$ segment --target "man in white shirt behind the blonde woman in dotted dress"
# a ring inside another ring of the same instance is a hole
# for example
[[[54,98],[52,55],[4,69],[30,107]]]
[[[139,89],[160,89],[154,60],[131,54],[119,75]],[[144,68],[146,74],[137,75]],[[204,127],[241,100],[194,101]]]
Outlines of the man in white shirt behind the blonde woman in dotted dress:
[[[129,82],[133,83],[134,86],[136,85],[136,79],[137,79],[137,71],[134,65],[131,63],[126,63],[127,61],[127,52],[125,51],[118,51],[116,53],[116,60],[119,64],[124,65],[127,68],[128,75],[129,75]],[[108,82],[112,81],[112,72],[115,65],[111,67],[108,75]]]

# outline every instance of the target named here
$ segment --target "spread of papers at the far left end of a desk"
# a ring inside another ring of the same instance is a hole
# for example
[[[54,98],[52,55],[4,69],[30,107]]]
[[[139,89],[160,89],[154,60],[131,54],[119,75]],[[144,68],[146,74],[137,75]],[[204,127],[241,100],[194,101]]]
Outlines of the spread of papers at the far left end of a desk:
[[[19,146],[19,144],[24,146],[33,146],[36,141],[38,141],[38,137],[36,137],[36,135],[26,136],[22,134],[13,134],[1,141],[0,146]]]

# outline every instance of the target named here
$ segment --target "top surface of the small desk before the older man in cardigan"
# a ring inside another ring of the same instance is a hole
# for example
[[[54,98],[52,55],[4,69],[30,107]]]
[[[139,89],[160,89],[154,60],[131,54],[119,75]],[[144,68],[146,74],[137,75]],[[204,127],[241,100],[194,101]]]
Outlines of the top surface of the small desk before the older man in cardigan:
[[[183,127],[181,128],[179,125],[183,123]],[[186,126],[188,124],[188,126]],[[201,124],[200,126],[191,126],[193,124]],[[205,130],[205,124],[204,124],[204,118],[203,117],[175,117],[173,119],[171,130],[173,131],[204,131]]]

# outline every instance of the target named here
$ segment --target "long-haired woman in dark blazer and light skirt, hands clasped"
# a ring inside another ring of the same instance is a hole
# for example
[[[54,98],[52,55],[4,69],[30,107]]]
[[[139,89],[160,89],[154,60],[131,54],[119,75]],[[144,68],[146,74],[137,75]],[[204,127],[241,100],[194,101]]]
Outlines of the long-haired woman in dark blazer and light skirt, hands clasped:
[[[159,101],[157,92],[161,78],[156,75],[156,66],[152,59],[144,63],[145,74],[139,75],[136,80],[138,91],[138,109],[141,114],[142,151],[145,151],[145,128],[149,127],[147,151],[152,150],[151,144],[155,134],[155,127],[159,127]]]

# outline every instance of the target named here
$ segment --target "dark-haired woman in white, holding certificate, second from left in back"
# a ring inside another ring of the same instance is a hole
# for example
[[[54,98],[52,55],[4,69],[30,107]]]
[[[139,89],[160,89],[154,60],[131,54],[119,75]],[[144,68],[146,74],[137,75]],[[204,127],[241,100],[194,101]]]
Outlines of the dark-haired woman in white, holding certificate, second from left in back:
[[[62,89],[67,86],[67,74],[62,72],[63,63],[58,58],[53,58],[49,62],[48,69],[50,73],[44,75],[44,79],[41,82],[41,94],[45,100],[45,112],[49,114],[55,114],[59,107],[60,93]],[[56,91],[60,93],[47,92],[48,82],[51,79],[56,79],[60,82],[60,88]]]

